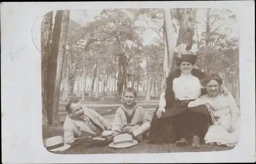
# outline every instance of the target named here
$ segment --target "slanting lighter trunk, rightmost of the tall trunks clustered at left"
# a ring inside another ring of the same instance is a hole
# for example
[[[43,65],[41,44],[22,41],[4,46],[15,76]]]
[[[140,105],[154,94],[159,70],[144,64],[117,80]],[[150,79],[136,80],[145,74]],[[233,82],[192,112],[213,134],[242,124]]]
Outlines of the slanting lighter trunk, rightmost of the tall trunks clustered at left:
[[[57,11],[58,12],[58,11]],[[60,12],[60,11],[59,11]],[[70,10],[64,10],[60,13],[62,15],[62,23],[60,23],[60,42],[58,49],[58,61],[57,61],[57,70],[56,70],[56,80],[55,80],[55,88],[54,88],[54,102],[53,102],[53,123],[58,124],[58,107],[59,107],[59,91],[60,91],[60,83],[62,78],[62,69],[63,62],[65,60],[66,54],[66,40],[68,36],[69,29],[69,15]]]

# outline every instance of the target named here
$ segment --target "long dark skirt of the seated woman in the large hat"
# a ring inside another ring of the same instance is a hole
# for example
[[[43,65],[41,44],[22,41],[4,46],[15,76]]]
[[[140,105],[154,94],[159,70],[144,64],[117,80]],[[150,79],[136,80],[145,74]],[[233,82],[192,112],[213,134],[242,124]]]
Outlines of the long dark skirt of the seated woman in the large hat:
[[[160,119],[156,116],[156,111],[148,134],[150,143],[174,143],[181,138],[190,140],[195,135],[204,142],[204,136],[211,124],[210,115],[204,105],[194,108],[176,106],[166,109]]]

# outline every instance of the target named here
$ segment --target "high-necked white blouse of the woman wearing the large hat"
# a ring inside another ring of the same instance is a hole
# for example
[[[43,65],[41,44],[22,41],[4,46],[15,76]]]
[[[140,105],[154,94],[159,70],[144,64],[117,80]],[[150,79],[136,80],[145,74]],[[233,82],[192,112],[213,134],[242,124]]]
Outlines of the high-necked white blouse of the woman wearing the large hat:
[[[178,100],[197,99],[201,96],[200,80],[193,75],[183,75],[173,81],[173,90]]]

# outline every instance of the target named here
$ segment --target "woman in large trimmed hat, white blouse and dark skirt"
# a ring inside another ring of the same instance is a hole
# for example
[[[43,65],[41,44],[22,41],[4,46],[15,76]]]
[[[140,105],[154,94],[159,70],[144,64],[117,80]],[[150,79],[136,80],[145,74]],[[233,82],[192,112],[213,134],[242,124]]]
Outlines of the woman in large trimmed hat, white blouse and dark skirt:
[[[177,146],[191,144],[192,148],[200,148],[204,136],[211,124],[206,106],[188,108],[206,90],[201,88],[200,81],[205,74],[193,68],[197,56],[186,50],[175,58],[179,67],[166,79],[165,108],[157,108],[148,139],[150,143],[175,143]],[[158,117],[158,116],[159,117]]]

